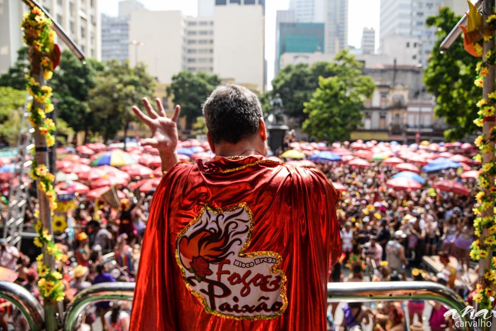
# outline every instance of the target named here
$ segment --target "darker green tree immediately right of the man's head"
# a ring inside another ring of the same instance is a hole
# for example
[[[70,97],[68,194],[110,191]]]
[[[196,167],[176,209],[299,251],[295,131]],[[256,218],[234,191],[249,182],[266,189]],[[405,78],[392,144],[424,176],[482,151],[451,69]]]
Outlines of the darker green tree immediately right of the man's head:
[[[318,77],[334,76],[336,73],[329,67],[329,62],[319,61],[309,66],[307,63],[287,65],[272,80],[272,91],[260,96],[264,113],[270,112],[269,98],[279,93],[284,103],[284,112],[293,117],[305,119],[308,115],[303,111],[303,104],[310,100],[318,87]]]

